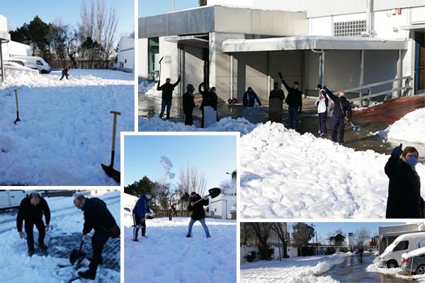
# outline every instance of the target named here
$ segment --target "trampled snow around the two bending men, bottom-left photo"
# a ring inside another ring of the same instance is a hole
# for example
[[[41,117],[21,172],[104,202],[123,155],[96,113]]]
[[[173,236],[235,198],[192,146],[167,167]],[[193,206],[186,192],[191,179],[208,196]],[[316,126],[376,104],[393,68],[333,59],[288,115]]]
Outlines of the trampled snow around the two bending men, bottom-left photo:
[[[99,197],[108,205],[117,224],[120,225],[120,192],[108,192],[102,195],[87,197]],[[50,238],[50,243],[55,241],[57,237],[66,237],[72,233],[79,233],[83,230],[84,215],[81,210],[74,207],[73,197],[47,197],[52,219],[50,221],[50,230],[46,233]],[[43,218],[44,219],[44,218]],[[88,260],[84,260],[84,267],[74,270],[73,267],[58,267],[58,265],[69,265],[68,258],[56,258],[52,255],[42,256],[33,255],[31,258],[27,255],[26,240],[21,239],[16,231],[16,209],[11,212],[0,212],[0,238],[2,240],[0,246],[0,282],[16,283],[67,283],[69,279],[74,277],[79,270],[86,270],[89,264]],[[34,228],[34,238],[37,241],[37,229]],[[84,244],[84,250],[91,256],[90,237],[93,231],[89,233],[89,237]],[[111,241],[111,240],[109,240]],[[36,246],[36,245],[35,245]],[[47,246],[49,244],[47,243]],[[62,247],[50,246],[47,251],[53,249],[60,250]],[[75,246],[74,248],[78,248]],[[69,250],[69,253],[71,250]],[[66,253],[67,256],[69,253]],[[117,256],[119,257],[119,250]],[[119,262],[119,260],[118,260]],[[115,283],[120,281],[120,272],[100,267],[95,282]],[[75,283],[86,282],[77,279]]]

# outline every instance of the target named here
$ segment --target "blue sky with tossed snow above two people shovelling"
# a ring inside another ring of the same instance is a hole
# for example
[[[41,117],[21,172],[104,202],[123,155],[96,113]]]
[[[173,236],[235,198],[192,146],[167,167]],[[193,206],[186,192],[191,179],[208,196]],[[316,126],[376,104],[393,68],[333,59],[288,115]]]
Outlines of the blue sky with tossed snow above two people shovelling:
[[[125,136],[124,170],[125,185],[147,177],[153,181],[163,180],[164,166],[161,156],[173,163],[171,173],[179,181],[180,168],[187,164],[198,168],[208,180],[207,189],[219,187],[222,180],[229,180],[236,169],[236,137],[225,135],[209,136]],[[169,179],[167,180],[169,181]]]

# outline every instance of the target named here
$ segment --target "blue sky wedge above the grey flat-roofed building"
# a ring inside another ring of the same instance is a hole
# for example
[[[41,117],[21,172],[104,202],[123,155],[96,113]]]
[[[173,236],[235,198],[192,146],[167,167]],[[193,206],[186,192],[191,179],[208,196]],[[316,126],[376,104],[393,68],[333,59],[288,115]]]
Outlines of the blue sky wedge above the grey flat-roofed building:
[[[175,0],[176,11],[198,7],[198,0]],[[139,0],[139,17],[153,16],[173,11],[173,0],[158,0],[152,5],[152,0]]]

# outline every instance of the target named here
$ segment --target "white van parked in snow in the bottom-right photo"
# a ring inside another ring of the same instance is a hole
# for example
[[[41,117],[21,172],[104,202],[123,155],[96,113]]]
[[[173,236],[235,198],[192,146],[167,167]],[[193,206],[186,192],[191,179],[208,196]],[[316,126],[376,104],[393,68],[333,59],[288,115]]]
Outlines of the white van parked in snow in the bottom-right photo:
[[[398,236],[390,246],[378,257],[380,267],[399,267],[402,265],[402,254],[417,248],[425,247],[425,232],[407,233]]]

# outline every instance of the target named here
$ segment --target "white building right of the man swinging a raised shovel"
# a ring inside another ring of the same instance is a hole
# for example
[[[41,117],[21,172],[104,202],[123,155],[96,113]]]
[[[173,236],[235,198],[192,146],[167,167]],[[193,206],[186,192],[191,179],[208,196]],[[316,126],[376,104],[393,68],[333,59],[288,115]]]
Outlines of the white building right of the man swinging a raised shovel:
[[[209,216],[212,218],[232,219],[236,216],[236,195],[221,194],[210,199]]]

